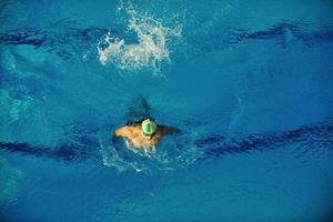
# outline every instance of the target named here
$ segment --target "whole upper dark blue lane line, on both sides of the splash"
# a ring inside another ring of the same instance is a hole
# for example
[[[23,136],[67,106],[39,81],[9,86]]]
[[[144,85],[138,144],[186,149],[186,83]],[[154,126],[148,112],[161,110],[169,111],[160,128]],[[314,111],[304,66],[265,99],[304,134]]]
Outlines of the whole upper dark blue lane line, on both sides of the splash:
[[[215,30],[220,30],[214,29]],[[222,29],[223,33],[212,32],[200,38],[191,37],[191,42],[194,48],[210,47],[220,48],[221,46],[232,46],[241,43],[245,40],[271,40],[279,39],[290,33],[294,39],[303,42],[309,41],[333,41],[333,26],[322,27],[316,30],[307,30],[306,24],[281,22],[265,30],[250,31],[245,29],[238,29],[229,27],[228,30]],[[49,27],[48,29],[24,27],[21,29],[7,30],[6,33],[0,33],[0,46],[16,46],[16,44],[29,44],[36,49],[41,47],[46,48],[50,53],[57,53],[63,60],[68,60],[72,57],[73,49],[91,49],[95,47],[99,40],[111,31],[113,34],[119,36],[119,31],[115,29],[104,28],[78,28],[75,21],[64,20],[59,21]],[[137,38],[130,33],[122,33],[127,42],[133,43]],[[209,41],[203,41],[208,38]],[[204,46],[203,42],[208,42],[210,46]],[[283,41],[282,41],[283,44]],[[99,44],[103,47],[102,43]],[[108,46],[105,46],[108,47]]]

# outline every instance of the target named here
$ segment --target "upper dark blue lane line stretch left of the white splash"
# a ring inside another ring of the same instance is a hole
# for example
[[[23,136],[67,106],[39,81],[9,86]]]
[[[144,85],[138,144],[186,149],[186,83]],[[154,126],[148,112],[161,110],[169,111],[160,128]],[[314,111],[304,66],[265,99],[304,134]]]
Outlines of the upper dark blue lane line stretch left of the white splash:
[[[115,30],[97,27],[79,28],[75,21],[62,20],[50,27],[23,27],[0,33],[0,46],[32,46],[34,49],[44,48],[63,60],[73,57],[73,50],[89,50],[95,47],[103,34]]]

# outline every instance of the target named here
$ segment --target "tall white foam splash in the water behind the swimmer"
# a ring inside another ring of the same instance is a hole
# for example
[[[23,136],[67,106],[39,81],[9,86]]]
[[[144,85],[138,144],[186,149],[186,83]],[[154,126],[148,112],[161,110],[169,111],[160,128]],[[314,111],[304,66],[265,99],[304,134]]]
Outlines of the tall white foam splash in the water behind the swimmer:
[[[124,11],[129,16],[128,31],[137,34],[138,43],[127,43],[109,31],[98,44],[101,64],[112,62],[124,71],[149,68],[159,73],[161,62],[170,61],[169,42],[172,37],[181,37],[181,27],[164,27],[161,21],[138,12],[132,6],[127,6]]]

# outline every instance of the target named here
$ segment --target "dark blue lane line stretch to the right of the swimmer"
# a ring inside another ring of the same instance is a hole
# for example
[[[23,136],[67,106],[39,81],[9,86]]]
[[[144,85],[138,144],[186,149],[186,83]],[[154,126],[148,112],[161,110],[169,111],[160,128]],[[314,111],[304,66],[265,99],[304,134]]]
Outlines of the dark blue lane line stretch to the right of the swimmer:
[[[296,130],[273,132],[266,134],[251,134],[245,138],[224,138],[213,135],[199,139],[194,142],[205,151],[203,159],[225,154],[244,153],[261,150],[274,150],[293,143],[304,144],[303,149],[312,145],[333,150],[333,121],[302,127]]]

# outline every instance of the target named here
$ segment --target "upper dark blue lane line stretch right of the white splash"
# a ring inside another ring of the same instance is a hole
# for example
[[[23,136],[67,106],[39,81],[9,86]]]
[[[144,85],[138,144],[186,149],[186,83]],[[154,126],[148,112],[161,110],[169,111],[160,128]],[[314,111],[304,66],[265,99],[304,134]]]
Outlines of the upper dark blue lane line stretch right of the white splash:
[[[333,41],[333,26],[311,28],[311,24],[299,22],[280,22],[264,30],[248,30],[235,27],[219,27],[212,29],[212,32],[193,38],[189,36],[195,49],[203,51],[214,51],[223,48],[230,48],[242,42],[251,40],[274,40],[278,46],[286,47],[290,40],[296,40],[309,47],[317,42]],[[220,30],[223,30],[221,32]]]

